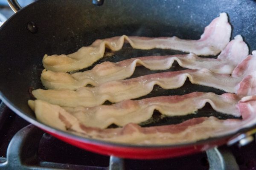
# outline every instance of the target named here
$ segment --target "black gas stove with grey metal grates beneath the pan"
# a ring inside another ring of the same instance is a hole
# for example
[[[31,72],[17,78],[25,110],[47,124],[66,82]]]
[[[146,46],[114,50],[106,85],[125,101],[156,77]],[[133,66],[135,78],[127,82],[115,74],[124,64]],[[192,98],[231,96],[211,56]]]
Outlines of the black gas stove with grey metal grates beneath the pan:
[[[28,1],[32,2],[32,0]],[[0,14],[2,22],[14,14],[6,6],[5,0],[0,0]],[[31,169],[254,170],[256,169],[256,142],[253,140],[245,146],[241,144],[222,146],[171,159],[136,160],[103,156],[79,149],[44,133],[38,127],[17,116],[0,101],[0,170]]]

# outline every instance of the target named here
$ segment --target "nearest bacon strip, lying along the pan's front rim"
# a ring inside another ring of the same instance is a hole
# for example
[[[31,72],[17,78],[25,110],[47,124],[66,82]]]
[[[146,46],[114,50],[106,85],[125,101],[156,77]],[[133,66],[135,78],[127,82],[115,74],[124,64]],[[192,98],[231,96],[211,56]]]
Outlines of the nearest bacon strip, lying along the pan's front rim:
[[[137,145],[195,142],[210,137],[236,133],[241,128],[256,124],[255,100],[246,100],[236,105],[241,113],[242,120],[219,120],[211,116],[189,119],[177,125],[140,127],[137,124],[129,123],[124,127],[110,129],[88,127],[58,105],[52,105],[41,100],[30,102],[29,105],[32,109],[35,109],[37,119],[46,125],[88,138]]]

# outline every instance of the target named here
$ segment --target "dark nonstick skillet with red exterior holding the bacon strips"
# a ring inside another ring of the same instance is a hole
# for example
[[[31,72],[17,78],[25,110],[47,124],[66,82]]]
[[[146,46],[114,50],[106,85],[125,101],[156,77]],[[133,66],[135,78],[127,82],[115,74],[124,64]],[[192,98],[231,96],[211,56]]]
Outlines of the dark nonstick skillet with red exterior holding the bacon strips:
[[[16,0],[9,2],[14,9],[19,9]],[[256,125],[226,136],[184,144],[119,144],[83,138],[44,125],[35,119],[27,100],[31,99],[29,89],[44,88],[40,81],[44,54],[70,54],[82,46],[90,45],[96,39],[122,34],[199,39],[204,27],[221,12],[229,15],[233,30],[231,39],[241,34],[251,52],[256,49],[255,11],[256,2],[253,0],[234,0],[232,3],[229,0],[106,0],[102,6],[95,6],[89,0],[38,0],[17,11],[0,27],[0,99],[23,119],[58,139],[106,155],[132,159],[160,159],[207,150],[221,144],[231,144],[254,133]],[[104,57],[99,62],[117,62],[132,57],[167,54],[181,53],[160,49],[135,50],[125,45],[122,50],[114,53],[113,57]],[[169,71],[179,69],[183,68],[178,67],[176,63]],[[153,72],[138,68],[134,77],[151,73]],[[187,82],[176,90],[158,89],[145,97],[182,95],[192,91],[224,93]],[[206,113],[218,114],[213,112],[205,109],[199,116]],[[228,118],[219,116],[221,119]],[[189,118],[191,117],[187,116],[182,119]],[[161,120],[150,125],[172,124],[179,121],[181,118]]]

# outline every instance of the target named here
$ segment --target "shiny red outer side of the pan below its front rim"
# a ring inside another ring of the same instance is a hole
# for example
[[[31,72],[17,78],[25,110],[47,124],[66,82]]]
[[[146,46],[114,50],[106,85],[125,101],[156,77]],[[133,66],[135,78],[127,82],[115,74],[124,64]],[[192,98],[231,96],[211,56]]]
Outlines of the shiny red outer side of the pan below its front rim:
[[[44,129],[43,129],[44,130]],[[46,131],[46,130],[44,130]],[[212,142],[205,142],[203,144],[187,145],[184,147],[132,147],[132,146],[118,146],[118,145],[107,145],[107,144],[96,144],[89,142],[81,142],[75,138],[69,138],[62,136],[58,133],[47,133],[61,139],[64,142],[72,144],[76,147],[89,150],[95,153],[117,156],[120,158],[128,159],[164,159],[172,158],[176,156],[184,156],[191,153],[205,151],[209,148],[219,146],[227,143],[230,138],[223,138]]]

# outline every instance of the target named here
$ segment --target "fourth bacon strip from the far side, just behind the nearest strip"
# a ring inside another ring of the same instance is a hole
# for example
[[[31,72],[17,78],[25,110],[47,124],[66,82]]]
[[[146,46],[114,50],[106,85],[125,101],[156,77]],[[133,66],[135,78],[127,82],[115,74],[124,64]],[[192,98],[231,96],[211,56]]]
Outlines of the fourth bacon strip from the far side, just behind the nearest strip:
[[[42,100],[38,100],[38,102],[37,105],[44,103]],[[141,100],[125,100],[113,105],[99,105],[92,108],[80,106],[64,109],[75,116],[83,125],[104,129],[111,124],[119,126],[128,123],[139,124],[150,119],[154,110],[166,116],[182,116],[195,113],[198,109],[203,108],[207,102],[215,111],[237,117],[241,116],[236,108],[239,98],[235,94],[217,95],[202,92],[183,96],[159,96]]]

